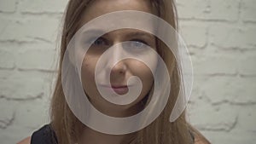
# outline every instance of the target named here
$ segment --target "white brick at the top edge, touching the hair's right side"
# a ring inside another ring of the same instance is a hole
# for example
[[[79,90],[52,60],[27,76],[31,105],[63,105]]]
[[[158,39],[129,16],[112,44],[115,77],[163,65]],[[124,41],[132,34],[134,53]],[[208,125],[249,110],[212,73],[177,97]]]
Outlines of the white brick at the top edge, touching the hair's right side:
[[[182,19],[238,20],[238,0],[177,1],[177,13]]]

